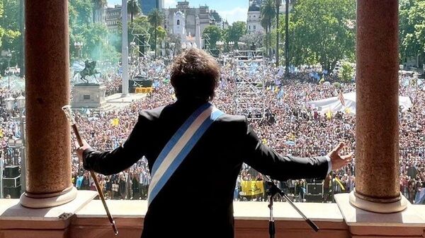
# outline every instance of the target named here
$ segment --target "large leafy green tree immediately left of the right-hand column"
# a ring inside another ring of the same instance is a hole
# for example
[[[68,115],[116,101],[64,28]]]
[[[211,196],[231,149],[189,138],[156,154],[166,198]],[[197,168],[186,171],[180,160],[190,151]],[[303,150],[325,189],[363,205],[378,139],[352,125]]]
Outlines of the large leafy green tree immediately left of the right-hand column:
[[[352,60],[355,57],[355,19],[355,0],[297,1],[290,15],[290,63],[319,63],[331,70],[336,61]]]

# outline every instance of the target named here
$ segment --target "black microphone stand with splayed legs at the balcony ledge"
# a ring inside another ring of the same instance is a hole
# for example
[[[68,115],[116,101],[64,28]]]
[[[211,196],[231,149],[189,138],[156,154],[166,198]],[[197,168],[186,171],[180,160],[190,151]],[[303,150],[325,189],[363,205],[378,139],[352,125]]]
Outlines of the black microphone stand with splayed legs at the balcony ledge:
[[[268,220],[268,234],[270,234],[270,238],[274,238],[276,233],[275,221],[273,218],[273,197],[276,196],[276,194],[280,194],[280,196],[285,198],[285,200],[290,204],[290,206],[292,206],[297,211],[297,213],[299,213],[302,218],[304,218],[305,222],[307,222],[307,224],[310,225],[310,227],[312,227],[315,232],[319,231],[319,227],[317,227],[317,225],[312,222],[310,218],[307,218],[304,213],[302,213],[302,211],[298,209],[292,201],[290,201],[290,198],[282,191],[282,189],[279,189],[278,186],[276,186],[276,184],[274,184],[268,176],[263,175],[263,177],[266,179],[268,186],[270,186],[267,191],[267,194],[269,196],[268,208],[270,209],[270,219]]]

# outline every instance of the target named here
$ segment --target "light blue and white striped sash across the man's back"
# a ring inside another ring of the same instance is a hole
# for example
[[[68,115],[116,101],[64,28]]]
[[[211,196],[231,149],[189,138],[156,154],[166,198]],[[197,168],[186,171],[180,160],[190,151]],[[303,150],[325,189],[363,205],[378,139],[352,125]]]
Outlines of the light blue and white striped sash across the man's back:
[[[162,187],[168,182],[181,162],[191,152],[193,146],[203,136],[203,133],[211,126],[218,117],[224,114],[210,104],[205,103],[196,109],[179,130],[174,133],[164,149],[159,153],[157,160],[152,166],[152,181],[149,184],[147,197],[148,206],[159,194]]]

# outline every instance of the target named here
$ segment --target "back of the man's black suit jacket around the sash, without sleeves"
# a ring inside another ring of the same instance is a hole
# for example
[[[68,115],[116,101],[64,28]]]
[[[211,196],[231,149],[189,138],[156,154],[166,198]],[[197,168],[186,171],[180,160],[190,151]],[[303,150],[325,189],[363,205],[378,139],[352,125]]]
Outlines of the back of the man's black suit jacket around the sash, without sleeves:
[[[152,135],[145,152],[151,171],[164,145],[202,104],[179,101],[142,112],[151,123],[145,131]],[[244,117],[223,115],[210,126],[150,204],[142,237],[165,237],[169,228],[175,237],[189,230],[233,237],[234,182],[242,166],[238,141],[245,125]]]

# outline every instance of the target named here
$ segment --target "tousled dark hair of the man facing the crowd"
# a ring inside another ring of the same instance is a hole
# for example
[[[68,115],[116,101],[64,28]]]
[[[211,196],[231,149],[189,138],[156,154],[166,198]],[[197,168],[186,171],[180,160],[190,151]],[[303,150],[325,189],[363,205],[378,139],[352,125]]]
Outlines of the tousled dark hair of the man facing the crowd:
[[[212,100],[220,77],[217,61],[200,49],[181,53],[171,66],[171,85],[176,97]]]

